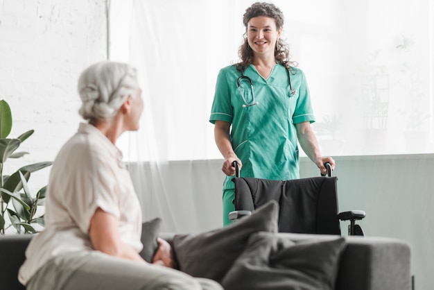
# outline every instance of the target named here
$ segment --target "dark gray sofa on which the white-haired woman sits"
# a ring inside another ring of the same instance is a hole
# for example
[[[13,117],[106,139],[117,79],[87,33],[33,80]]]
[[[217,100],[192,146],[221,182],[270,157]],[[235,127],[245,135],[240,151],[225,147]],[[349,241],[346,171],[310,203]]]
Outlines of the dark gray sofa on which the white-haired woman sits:
[[[269,233],[270,234],[270,233]],[[336,236],[274,233],[279,239],[295,242],[331,241]],[[161,234],[173,239],[171,234]],[[17,271],[31,235],[0,236],[0,290],[24,289]],[[347,237],[338,262],[338,290],[409,290],[410,246],[397,239]]]

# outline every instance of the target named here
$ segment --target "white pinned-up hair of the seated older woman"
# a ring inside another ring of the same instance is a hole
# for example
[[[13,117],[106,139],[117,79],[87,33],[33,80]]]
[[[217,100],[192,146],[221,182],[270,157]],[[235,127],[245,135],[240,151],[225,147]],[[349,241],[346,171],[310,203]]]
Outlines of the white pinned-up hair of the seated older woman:
[[[136,69],[120,62],[98,62],[78,79],[78,94],[83,102],[78,112],[85,120],[111,119],[138,89]]]

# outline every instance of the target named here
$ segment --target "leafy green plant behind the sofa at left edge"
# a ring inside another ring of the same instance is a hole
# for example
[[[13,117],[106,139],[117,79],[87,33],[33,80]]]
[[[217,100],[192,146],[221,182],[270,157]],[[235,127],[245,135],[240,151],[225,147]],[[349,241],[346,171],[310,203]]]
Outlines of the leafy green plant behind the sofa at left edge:
[[[17,149],[34,130],[28,130],[17,138],[8,138],[12,130],[12,113],[8,103],[0,101],[0,234],[13,226],[17,233],[36,232],[33,224],[44,225],[44,216],[38,216],[37,206],[44,203],[46,187],[42,187],[37,194],[31,194],[28,180],[31,173],[49,167],[52,162],[38,162],[21,167],[15,173],[3,173],[5,162],[9,158],[19,158],[28,154],[17,152]],[[7,216],[6,216],[7,215]]]

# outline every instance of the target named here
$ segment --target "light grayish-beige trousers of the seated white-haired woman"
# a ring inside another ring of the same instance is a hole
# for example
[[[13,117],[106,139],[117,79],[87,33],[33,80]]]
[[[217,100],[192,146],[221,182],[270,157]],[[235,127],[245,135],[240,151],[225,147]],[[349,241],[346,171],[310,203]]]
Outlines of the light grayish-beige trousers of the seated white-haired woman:
[[[96,250],[67,253],[46,262],[27,290],[223,290],[217,282],[105,255]]]

